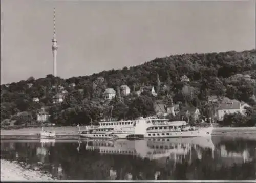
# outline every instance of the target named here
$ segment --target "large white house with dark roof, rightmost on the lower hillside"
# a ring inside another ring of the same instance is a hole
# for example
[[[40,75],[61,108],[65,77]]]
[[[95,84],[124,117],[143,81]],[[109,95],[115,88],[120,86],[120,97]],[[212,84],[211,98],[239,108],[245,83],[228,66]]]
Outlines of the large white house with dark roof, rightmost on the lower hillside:
[[[246,107],[250,105],[245,102],[239,102],[238,100],[231,100],[224,97],[223,100],[218,104],[218,120],[222,121],[225,114],[240,112],[244,115]]]

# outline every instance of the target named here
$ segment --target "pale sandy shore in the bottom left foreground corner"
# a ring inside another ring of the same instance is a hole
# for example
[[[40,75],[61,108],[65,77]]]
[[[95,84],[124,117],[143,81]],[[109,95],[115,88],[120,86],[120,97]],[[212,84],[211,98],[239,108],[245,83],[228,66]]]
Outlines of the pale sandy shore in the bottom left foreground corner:
[[[50,175],[42,174],[36,170],[25,169],[17,163],[1,159],[1,181],[12,180],[49,181],[54,179],[52,179]]]

